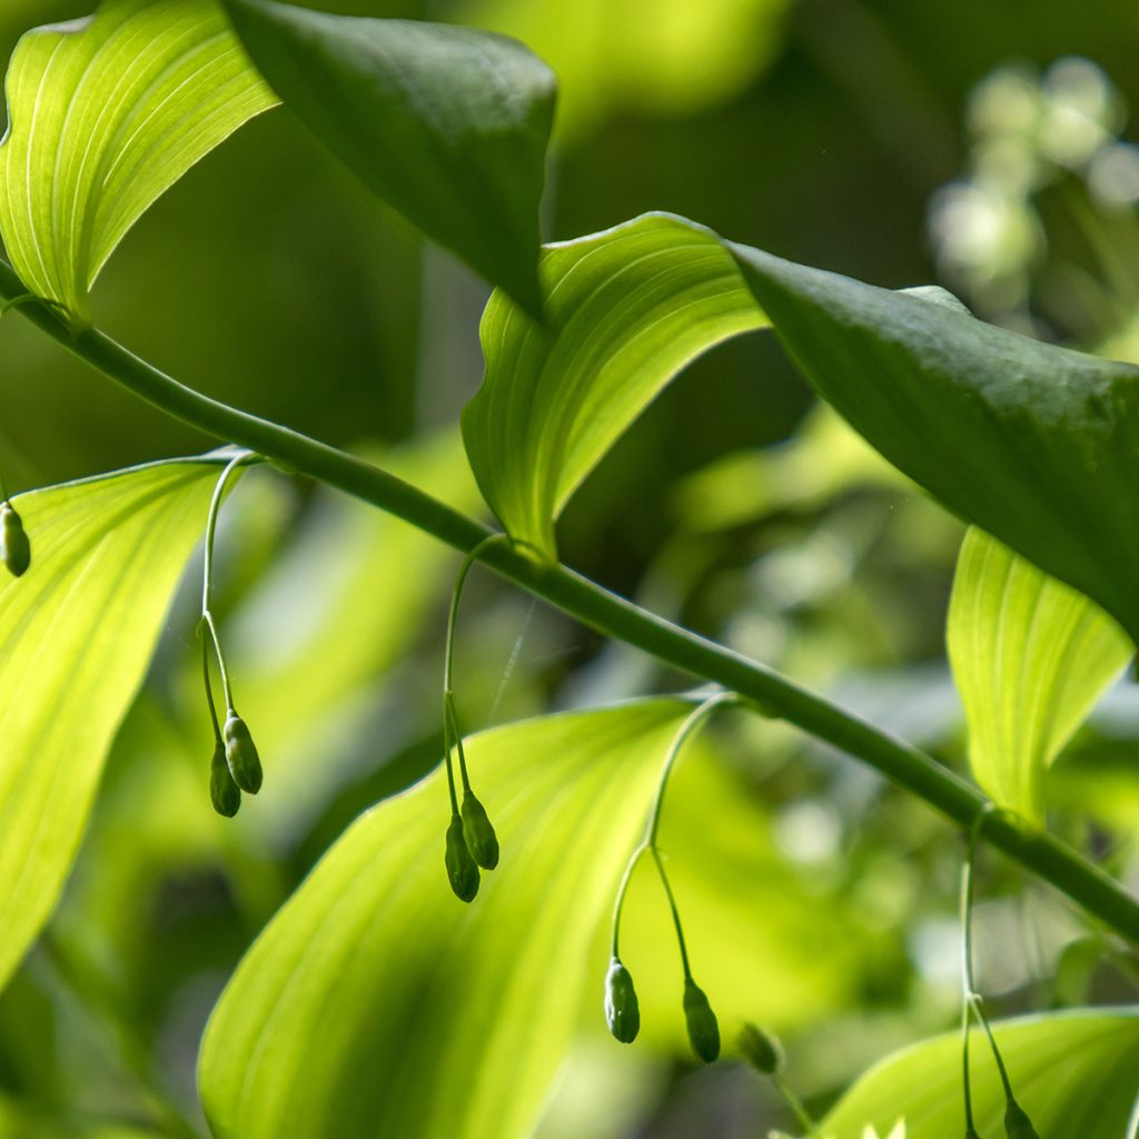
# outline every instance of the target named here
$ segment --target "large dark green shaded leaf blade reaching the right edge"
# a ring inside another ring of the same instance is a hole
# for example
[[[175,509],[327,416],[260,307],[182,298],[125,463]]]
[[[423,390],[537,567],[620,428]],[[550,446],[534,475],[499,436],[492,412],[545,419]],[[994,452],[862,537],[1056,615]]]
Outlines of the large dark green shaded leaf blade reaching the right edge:
[[[792,359],[858,432],[1139,637],[1139,368],[732,249]]]

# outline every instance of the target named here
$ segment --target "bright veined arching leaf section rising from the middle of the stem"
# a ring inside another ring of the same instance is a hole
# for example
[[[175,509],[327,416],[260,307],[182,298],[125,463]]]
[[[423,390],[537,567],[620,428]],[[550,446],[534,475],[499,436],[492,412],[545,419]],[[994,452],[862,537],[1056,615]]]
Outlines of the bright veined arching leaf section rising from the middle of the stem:
[[[765,321],[720,238],[669,214],[548,246],[540,277],[542,326],[501,293],[486,306],[462,435],[507,532],[554,557],[554,521],[654,396]]]

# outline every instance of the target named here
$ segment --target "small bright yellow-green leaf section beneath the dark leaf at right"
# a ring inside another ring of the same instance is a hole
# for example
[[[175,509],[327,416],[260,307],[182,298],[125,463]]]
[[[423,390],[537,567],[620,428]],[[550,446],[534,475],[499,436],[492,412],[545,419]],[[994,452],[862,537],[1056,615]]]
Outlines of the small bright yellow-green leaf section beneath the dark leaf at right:
[[[1001,806],[1043,822],[1044,772],[1131,641],[1093,601],[976,527],[957,562],[947,639],[974,776]]]

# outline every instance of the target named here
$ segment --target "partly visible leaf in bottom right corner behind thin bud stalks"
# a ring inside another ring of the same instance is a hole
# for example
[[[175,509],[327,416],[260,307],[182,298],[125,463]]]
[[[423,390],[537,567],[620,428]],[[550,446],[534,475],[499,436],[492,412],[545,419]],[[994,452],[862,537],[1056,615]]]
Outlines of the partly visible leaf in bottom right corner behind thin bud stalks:
[[[1139,1014],[1081,1009],[994,1025],[1013,1090],[1043,1139],[1124,1139],[1139,1090]],[[1002,1136],[1005,1095],[984,1034],[970,1038],[977,1131]],[[862,1139],[867,1124],[907,1139],[961,1139],[961,1039],[948,1033],[870,1068],[822,1121],[827,1139]]]

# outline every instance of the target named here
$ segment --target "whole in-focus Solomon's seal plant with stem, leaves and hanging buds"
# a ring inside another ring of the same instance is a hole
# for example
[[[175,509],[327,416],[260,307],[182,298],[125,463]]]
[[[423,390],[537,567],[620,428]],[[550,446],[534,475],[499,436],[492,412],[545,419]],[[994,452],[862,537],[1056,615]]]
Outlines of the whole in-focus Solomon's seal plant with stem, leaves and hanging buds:
[[[261,757],[235,706],[213,577],[227,489],[243,467],[264,462],[401,519],[464,560],[445,625],[442,721],[435,737],[407,748],[429,752],[437,767],[427,772],[425,761],[415,772],[421,781],[402,794],[394,792],[410,778],[369,784],[369,802],[378,802],[349,826],[369,804],[314,802],[312,772],[326,759],[331,765],[323,752],[336,749],[334,729],[350,702],[319,732],[301,737],[295,751],[303,763],[294,761],[289,779],[286,757],[278,759],[294,727],[287,705],[323,702],[326,678],[305,644],[292,688],[281,682],[287,699],[273,705],[263,696],[255,705],[255,670],[247,673],[233,657],[241,706],[272,755],[273,778],[260,801],[272,816],[265,829],[284,842],[298,818],[327,808],[321,821],[330,833],[318,844],[323,857],[311,869],[305,863],[303,883],[282,901],[279,883],[251,871],[260,867],[241,846],[248,820],[219,828],[228,835],[243,917],[263,929],[202,1041],[202,1107],[218,1139],[524,1139],[550,1098],[582,1002],[599,1027],[603,983],[616,1041],[638,1041],[640,1054],[675,1050],[687,1039],[698,1060],[715,1062],[721,1019],[727,1029],[730,1016],[735,1027],[751,1015],[737,1007],[739,994],[715,954],[735,952],[738,977],[751,969],[749,937],[760,931],[775,940],[763,928],[767,913],[752,912],[752,892],[767,890],[772,908],[834,909],[836,923],[838,911],[872,902],[841,875],[838,885],[834,874],[829,882],[822,872],[780,876],[773,855],[762,875],[715,894],[720,884],[699,872],[699,857],[714,861],[721,838],[723,847],[759,857],[765,843],[775,845],[769,830],[778,829],[765,813],[762,822],[748,816],[732,825],[741,796],[718,790],[715,779],[728,772],[719,749],[710,749],[713,775],[696,773],[693,786],[702,793],[666,797],[686,747],[727,707],[748,713],[732,719],[746,721],[749,732],[761,719],[777,720],[778,728],[760,727],[806,735],[876,771],[926,804],[948,834],[969,838],[961,1033],[887,1056],[845,1092],[811,1088],[803,1099],[826,1112],[816,1123],[787,1083],[780,1047],[745,1024],[738,1052],[775,1084],[794,1125],[833,1139],[903,1139],[907,1128],[909,1139],[958,1139],[962,1125],[972,1139],[992,1139],[999,1128],[1009,1139],[1122,1139],[1129,1126],[1133,1133],[1139,1011],[1071,1003],[991,1023],[973,975],[973,872],[983,839],[1082,915],[1116,958],[1125,956],[1121,947],[1139,944],[1139,901],[1089,857],[1095,847],[1082,830],[1068,830],[1080,837],[1077,849],[1049,829],[1047,794],[1050,767],[1139,638],[1139,367],[986,325],[940,289],[879,288],[675,214],[648,212],[543,245],[555,91],[550,68],[508,36],[274,0],[104,0],[90,18],[21,41],[0,147],[8,256],[0,262],[0,305],[125,392],[226,445],[21,494],[19,513],[3,490],[0,552],[10,580],[0,585],[0,691],[8,694],[0,708],[0,980],[11,978],[60,896],[116,731],[124,726],[123,746],[141,738],[149,747],[146,716],[178,703],[175,677],[165,704],[153,702],[163,708],[144,702],[137,719],[128,718],[203,511],[198,628],[211,736],[206,744],[200,716],[198,736],[192,724],[169,735],[192,744],[199,784],[211,748],[210,801],[219,814],[237,814],[243,794],[261,790]],[[475,513],[458,509],[401,477],[399,456],[371,462],[207,396],[96,326],[92,289],[134,222],[213,147],[278,104],[372,195],[493,289],[480,327],[483,384],[453,439],[462,473],[473,476],[470,501],[474,484],[484,500],[482,516],[474,505]],[[845,419],[968,524],[948,647],[972,779],[562,560],[559,517],[587,478],[604,475],[603,460],[648,404],[697,357],[764,329],[835,424]],[[490,515],[494,527],[484,521]],[[664,666],[671,680],[637,673],[637,690],[621,703],[582,707],[592,700],[577,699],[568,711],[465,732],[453,658],[459,605],[476,562],[604,642]],[[368,588],[374,572],[368,562],[360,574]],[[410,580],[415,567],[408,574],[401,589],[410,597],[424,583]],[[382,581],[376,592],[390,609],[404,604],[399,590],[385,590]],[[366,591],[336,625],[353,648]],[[316,606],[313,613],[323,616]],[[361,665],[353,679],[362,685],[372,672]],[[289,680],[282,669],[263,687],[281,675]],[[714,695],[669,695],[681,683]],[[196,691],[196,678],[194,685]],[[434,719],[437,678],[431,693]],[[394,734],[392,711],[374,735]],[[739,748],[753,776],[757,751]],[[694,767],[686,764],[682,778]],[[784,775],[795,797],[797,772]],[[444,795],[446,883],[437,863]],[[713,806],[702,816],[705,798]],[[670,818],[681,810],[699,817],[686,833],[670,834],[672,862],[661,841],[666,802]],[[159,805],[169,804],[149,804]],[[153,825],[163,839],[185,837],[181,819],[173,821],[181,810],[171,806]],[[136,822],[151,823],[150,812],[118,829]],[[702,834],[710,839],[704,851]],[[912,836],[894,837],[899,851],[912,850]],[[653,913],[633,919],[626,899],[645,855],[661,893]],[[456,906],[451,894],[475,904]],[[903,899],[915,909],[919,900],[917,890]],[[608,953],[599,954],[611,902]],[[708,915],[724,912],[753,924],[716,947]],[[656,918],[661,927],[649,928]],[[624,941],[623,919],[631,925]],[[877,951],[869,924],[858,928]],[[711,932],[694,949],[686,928],[693,939]],[[842,953],[842,941],[811,933],[812,961]],[[671,980],[654,973],[656,942],[667,944],[670,973],[658,972]],[[130,961],[118,966],[131,976]],[[788,998],[796,1014],[816,997],[811,977]],[[1133,988],[1120,991],[1133,995]],[[970,1063],[980,1033],[991,1065]],[[149,1042],[125,1029],[121,1035],[163,1126],[195,1134],[197,1124],[172,1106],[153,1071]],[[630,1059],[617,1049],[612,1055]]]

